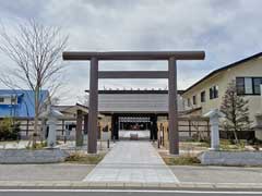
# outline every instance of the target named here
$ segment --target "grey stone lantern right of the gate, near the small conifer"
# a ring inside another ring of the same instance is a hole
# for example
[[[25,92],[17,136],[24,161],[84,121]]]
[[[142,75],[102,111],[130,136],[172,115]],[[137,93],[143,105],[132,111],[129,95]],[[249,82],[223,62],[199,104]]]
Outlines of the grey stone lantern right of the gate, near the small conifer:
[[[219,110],[214,109],[204,114],[210,118],[211,125],[211,148],[210,150],[219,150],[219,118],[224,118],[225,114]]]

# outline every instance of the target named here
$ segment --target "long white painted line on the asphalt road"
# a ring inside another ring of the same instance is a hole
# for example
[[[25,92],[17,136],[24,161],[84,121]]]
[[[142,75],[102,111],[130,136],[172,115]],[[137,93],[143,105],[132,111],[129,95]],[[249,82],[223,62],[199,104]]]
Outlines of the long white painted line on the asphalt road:
[[[164,189],[0,189],[0,193],[165,193],[165,194],[228,194],[228,195],[262,195],[262,192],[215,192],[215,191],[164,191]]]

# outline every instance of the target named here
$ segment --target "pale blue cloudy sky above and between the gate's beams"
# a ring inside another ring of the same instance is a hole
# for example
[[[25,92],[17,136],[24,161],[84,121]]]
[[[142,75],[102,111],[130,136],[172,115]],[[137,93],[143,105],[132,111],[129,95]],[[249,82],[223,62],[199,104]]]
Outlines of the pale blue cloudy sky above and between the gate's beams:
[[[204,61],[178,62],[178,88],[261,52],[261,0],[0,0],[7,28],[32,19],[62,27],[68,50],[205,50]],[[1,70],[12,65],[0,54]],[[100,63],[100,70],[165,70],[166,62]],[[70,62],[62,103],[88,88],[88,63]],[[100,88],[165,88],[167,81],[100,81]],[[0,87],[3,87],[0,84]]]

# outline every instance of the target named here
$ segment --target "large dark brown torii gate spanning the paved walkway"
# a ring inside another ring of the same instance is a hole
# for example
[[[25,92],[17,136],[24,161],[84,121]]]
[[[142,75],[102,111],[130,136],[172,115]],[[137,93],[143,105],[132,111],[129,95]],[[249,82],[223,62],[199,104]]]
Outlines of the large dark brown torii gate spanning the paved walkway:
[[[98,78],[168,78],[169,154],[179,154],[177,60],[203,60],[204,51],[64,51],[63,60],[91,61],[87,152],[97,152]],[[168,71],[98,71],[98,61],[168,61]]]

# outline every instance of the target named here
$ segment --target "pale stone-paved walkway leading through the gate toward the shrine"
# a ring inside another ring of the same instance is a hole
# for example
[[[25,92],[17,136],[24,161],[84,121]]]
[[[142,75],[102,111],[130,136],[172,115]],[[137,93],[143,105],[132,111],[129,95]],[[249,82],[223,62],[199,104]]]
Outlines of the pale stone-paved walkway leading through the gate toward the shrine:
[[[178,183],[150,142],[118,142],[85,182]]]

